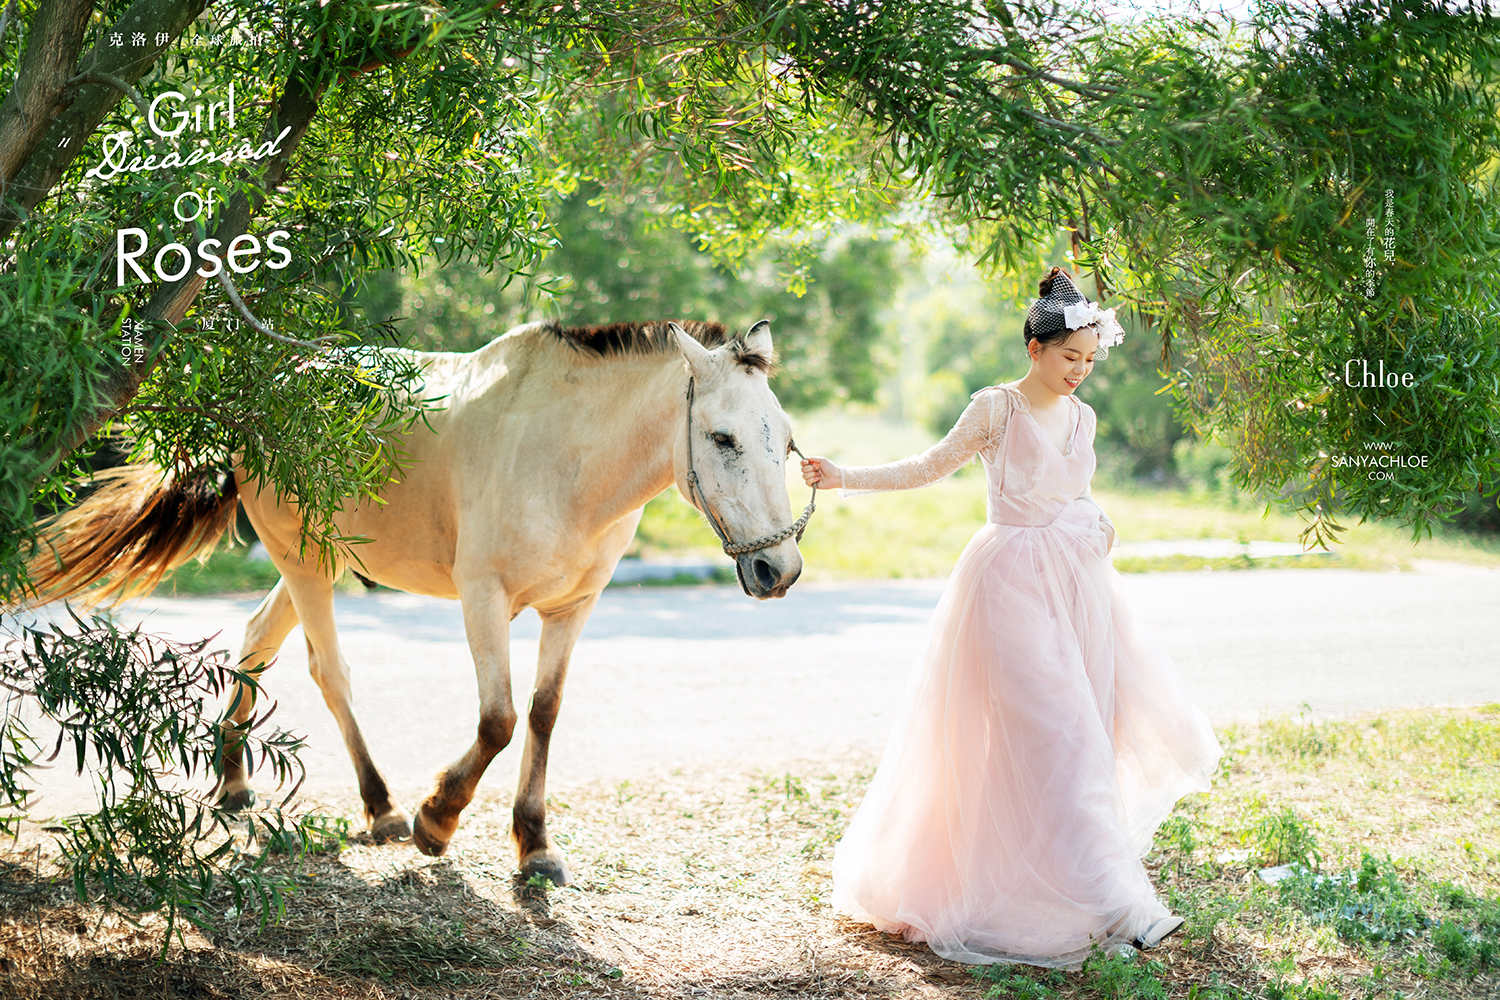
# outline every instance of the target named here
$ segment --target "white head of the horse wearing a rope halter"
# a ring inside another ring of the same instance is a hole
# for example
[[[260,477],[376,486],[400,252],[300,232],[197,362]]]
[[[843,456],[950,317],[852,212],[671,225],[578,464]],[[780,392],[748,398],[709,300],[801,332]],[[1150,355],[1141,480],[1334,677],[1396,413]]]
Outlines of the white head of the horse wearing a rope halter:
[[[753,544],[792,523],[786,456],[792,421],[766,384],[771,324],[705,348],[672,324],[692,375],[687,433],[676,444],[676,487],[730,546]],[[696,489],[694,489],[696,480]],[[783,597],[802,571],[795,538],[736,553],[740,586],[750,597]]]

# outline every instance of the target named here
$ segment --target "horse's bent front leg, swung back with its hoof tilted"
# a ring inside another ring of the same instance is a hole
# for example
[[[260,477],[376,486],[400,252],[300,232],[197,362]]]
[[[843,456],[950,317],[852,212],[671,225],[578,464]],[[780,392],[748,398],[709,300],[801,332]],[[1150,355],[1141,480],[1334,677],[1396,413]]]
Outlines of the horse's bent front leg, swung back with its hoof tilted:
[[[478,678],[478,736],[462,757],[438,774],[438,786],[417,811],[412,841],[424,855],[441,855],[474,799],[484,768],[510,744],[516,706],[510,699],[510,598],[494,576],[459,585],[464,631]]]

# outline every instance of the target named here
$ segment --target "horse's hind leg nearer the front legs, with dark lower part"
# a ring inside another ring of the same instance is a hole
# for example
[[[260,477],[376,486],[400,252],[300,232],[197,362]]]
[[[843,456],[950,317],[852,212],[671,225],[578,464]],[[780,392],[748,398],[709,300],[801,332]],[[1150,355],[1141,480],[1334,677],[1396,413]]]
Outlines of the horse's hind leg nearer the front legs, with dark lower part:
[[[360,798],[364,801],[364,817],[376,843],[402,840],[411,835],[405,814],[390,802],[386,778],[370,759],[364,735],[354,718],[350,690],[350,664],[339,652],[339,636],[333,625],[333,582],[321,573],[284,571],[282,582],[291,594],[302,619],[302,631],[308,637],[308,667],[312,679],[322,691],[322,700],[339,723],[344,744],[348,747],[354,774],[360,783]]]

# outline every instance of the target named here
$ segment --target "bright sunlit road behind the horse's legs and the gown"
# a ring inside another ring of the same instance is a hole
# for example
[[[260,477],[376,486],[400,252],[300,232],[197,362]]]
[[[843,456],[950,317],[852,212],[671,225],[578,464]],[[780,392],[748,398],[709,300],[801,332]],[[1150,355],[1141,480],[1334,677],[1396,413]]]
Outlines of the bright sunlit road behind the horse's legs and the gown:
[[[1304,703],[1342,715],[1500,700],[1500,570],[1155,573],[1122,583],[1215,723],[1296,714]],[[802,583],[768,603],[732,586],[606,591],[573,655],[550,787],[712,762],[774,771],[879,750],[942,586]],[[222,630],[237,651],[254,607],[153,600],[123,619],[180,639]],[[393,790],[414,802],[468,747],[477,721],[459,604],[351,594],[338,598],[338,619],[370,750]],[[538,631],[531,612],[513,622],[522,711]],[[266,675],[276,718],[309,736],[309,790],[346,790],[352,772],[306,667],[297,630]],[[513,787],[519,757],[518,741],[484,784]],[[34,814],[68,808],[78,783],[46,777],[44,792]]]

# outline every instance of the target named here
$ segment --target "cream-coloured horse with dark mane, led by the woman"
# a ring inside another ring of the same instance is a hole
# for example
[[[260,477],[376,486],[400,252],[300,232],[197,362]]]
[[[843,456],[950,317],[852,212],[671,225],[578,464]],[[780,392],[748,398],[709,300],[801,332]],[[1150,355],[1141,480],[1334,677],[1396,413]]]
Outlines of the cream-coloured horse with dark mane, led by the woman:
[[[518,714],[510,622],[534,607],[540,657],[512,835],[522,876],[562,886],[567,862],[548,835],[544,805],[552,727],[573,645],[630,546],[645,502],[675,481],[735,555],[750,597],[783,597],[801,573],[795,534],[807,514],[784,528],[784,462],[795,445],[768,384],[776,364],[771,327],[760,321],[730,337],[717,322],[534,322],[468,354],[406,354],[422,367],[420,394],[446,405],[405,433],[408,459],[381,489],[382,502],[348,505],[334,526],[345,538],[368,538],[357,546],[357,573],[368,585],[464,606],[478,732],[470,750],[438,772],[416,823],[392,802],[350,706],[350,667],[333,621],[333,585],[352,568],[350,556],[320,561],[309,546],[304,559],[297,502],[252,480],[243,456],[218,492],[164,477],[152,465],[112,471],[56,519],[51,552],[32,562],[33,586],[45,601],[105,577],[159,580],[212,550],[243,504],[280,580],[250,616],[240,669],[258,679],[300,622],[312,676],[354,763],[370,835],[376,843],[411,838],[434,856],[447,849],[484,768],[512,741]],[[128,592],[140,586],[120,591]],[[230,721],[246,724],[254,687],[238,685],[230,705]],[[255,793],[242,748],[232,741],[226,747],[218,801],[242,810]]]

